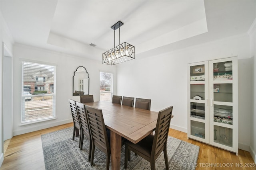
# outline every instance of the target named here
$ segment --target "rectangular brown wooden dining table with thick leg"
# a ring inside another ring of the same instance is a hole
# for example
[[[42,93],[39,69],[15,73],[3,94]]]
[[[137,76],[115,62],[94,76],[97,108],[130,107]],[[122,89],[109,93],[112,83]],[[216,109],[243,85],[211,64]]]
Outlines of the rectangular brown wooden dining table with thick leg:
[[[122,137],[136,144],[156,129],[156,111],[105,101],[85,104],[102,109],[104,123],[110,130],[112,170],[120,170]]]

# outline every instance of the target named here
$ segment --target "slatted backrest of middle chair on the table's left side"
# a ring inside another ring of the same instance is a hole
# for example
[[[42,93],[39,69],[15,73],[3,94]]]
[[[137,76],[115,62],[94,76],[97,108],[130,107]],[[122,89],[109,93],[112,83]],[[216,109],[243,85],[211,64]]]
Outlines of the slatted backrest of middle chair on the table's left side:
[[[89,124],[87,120],[85,104],[76,102],[76,108],[78,113],[78,119],[80,121],[81,131],[84,135],[86,135],[90,139],[90,129],[89,129]]]

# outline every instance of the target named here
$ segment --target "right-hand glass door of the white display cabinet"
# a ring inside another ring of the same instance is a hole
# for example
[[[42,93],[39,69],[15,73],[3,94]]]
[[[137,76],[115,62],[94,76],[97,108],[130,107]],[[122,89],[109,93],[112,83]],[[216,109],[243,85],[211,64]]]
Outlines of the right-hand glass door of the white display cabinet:
[[[237,59],[209,61],[210,144],[238,152]]]

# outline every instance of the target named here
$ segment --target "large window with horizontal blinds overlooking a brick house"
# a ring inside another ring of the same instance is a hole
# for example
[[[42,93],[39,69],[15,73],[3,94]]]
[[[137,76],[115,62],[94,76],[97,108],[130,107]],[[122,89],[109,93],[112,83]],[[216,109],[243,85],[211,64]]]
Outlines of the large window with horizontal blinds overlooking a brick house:
[[[21,123],[55,118],[56,66],[22,62]]]

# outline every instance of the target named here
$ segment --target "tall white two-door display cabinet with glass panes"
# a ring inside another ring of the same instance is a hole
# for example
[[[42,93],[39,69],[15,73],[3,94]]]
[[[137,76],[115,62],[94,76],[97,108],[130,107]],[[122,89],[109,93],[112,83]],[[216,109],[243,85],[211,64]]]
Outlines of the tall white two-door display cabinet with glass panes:
[[[237,57],[188,64],[188,138],[238,153]]]

